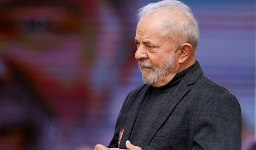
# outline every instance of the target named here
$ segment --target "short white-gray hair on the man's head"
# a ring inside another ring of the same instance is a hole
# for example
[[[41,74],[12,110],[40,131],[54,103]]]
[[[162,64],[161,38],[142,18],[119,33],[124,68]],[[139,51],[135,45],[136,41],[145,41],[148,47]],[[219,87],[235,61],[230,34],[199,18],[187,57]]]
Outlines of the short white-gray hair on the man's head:
[[[171,34],[171,31],[175,31],[177,32],[177,36],[181,37],[182,39],[182,41],[179,42],[190,43],[192,45],[192,50],[195,51],[198,47],[199,29],[198,23],[192,14],[191,8],[178,0],[162,0],[157,3],[150,3],[140,8],[137,11],[138,20],[140,21],[143,17],[154,14],[160,10],[167,10],[177,13],[178,15],[183,14],[186,16],[186,19],[178,21],[177,24],[174,23],[173,20],[168,20],[168,22],[165,24],[166,31],[163,33],[163,36],[168,36],[168,34]],[[178,45],[180,44],[181,43],[178,43]]]

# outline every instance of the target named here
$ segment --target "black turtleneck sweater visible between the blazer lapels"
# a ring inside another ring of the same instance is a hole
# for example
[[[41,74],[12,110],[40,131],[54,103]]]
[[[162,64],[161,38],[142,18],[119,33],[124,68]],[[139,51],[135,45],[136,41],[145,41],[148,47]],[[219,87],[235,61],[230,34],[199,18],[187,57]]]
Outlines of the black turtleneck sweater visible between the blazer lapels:
[[[137,119],[134,125],[134,129],[136,129],[136,131],[139,131],[139,132],[134,132],[133,130],[131,133],[130,140],[136,142],[136,143],[133,143],[134,145],[138,145],[142,143],[141,139],[138,139],[137,137],[141,137],[138,135],[142,135],[146,133],[146,130],[150,126],[148,123],[148,117],[145,117],[145,116],[151,116],[150,118],[155,118],[157,116],[157,113],[155,112],[160,111],[164,103],[164,97],[166,96],[166,93],[172,92],[175,89],[175,87],[178,85],[178,83],[183,79],[183,77],[189,72],[189,70],[193,68],[194,65],[176,74],[172,79],[172,81],[169,82],[167,85],[164,85],[163,87],[160,87],[160,88],[154,88],[153,86],[149,87],[150,89],[148,90],[148,95],[146,96],[143,102],[143,105],[140,108],[139,114],[137,116]]]

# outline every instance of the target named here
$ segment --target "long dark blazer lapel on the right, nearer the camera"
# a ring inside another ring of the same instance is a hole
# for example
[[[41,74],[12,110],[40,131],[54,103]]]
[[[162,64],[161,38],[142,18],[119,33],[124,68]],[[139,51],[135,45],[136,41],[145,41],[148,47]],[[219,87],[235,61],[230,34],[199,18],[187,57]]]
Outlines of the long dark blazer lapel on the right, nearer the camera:
[[[172,113],[172,110],[176,107],[176,105],[180,102],[183,96],[186,95],[190,91],[184,80],[181,80],[177,87],[172,91],[172,93],[168,93],[166,95],[165,103],[163,104],[162,109],[158,113],[157,117],[153,119],[151,122],[151,126],[145,136],[143,136],[143,142],[141,143],[141,147],[144,148],[148,146],[148,144],[153,139],[154,135],[157,133],[161,125],[166,121],[169,115]],[[125,141],[124,141],[125,142]]]

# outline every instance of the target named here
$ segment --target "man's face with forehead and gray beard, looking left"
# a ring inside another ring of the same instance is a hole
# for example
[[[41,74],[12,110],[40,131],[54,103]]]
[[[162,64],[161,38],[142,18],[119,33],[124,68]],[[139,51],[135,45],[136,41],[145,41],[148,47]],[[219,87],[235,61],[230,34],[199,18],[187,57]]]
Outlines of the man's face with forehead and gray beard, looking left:
[[[176,42],[162,35],[165,31],[164,18],[159,16],[143,18],[136,30],[135,58],[139,62],[143,81],[148,85],[166,80],[169,74],[175,73],[177,66]]]

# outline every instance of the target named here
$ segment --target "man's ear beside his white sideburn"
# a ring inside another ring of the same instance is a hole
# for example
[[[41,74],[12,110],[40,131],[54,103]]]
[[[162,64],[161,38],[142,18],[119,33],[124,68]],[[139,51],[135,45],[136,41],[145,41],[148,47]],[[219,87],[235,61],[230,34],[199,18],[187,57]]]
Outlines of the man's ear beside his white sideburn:
[[[189,43],[183,43],[180,45],[179,49],[180,49],[180,53],[178,56],[178,63],[181,64],[189,58],[189,56],[192,52],[192,45]]]

